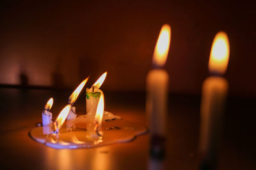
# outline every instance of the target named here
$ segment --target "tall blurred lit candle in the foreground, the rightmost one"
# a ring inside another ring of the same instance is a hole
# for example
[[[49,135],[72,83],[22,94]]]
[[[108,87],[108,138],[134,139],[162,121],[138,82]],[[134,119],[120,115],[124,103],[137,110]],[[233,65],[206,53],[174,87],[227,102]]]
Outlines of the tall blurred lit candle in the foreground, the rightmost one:
[[[201,123],[199,152],[202,154],[201,169],[216,169],[218,142],[228,81],[225,73],[229,58],[228,36],[218,32],[212,43],[209,71],[213,74],[202,85]]]

